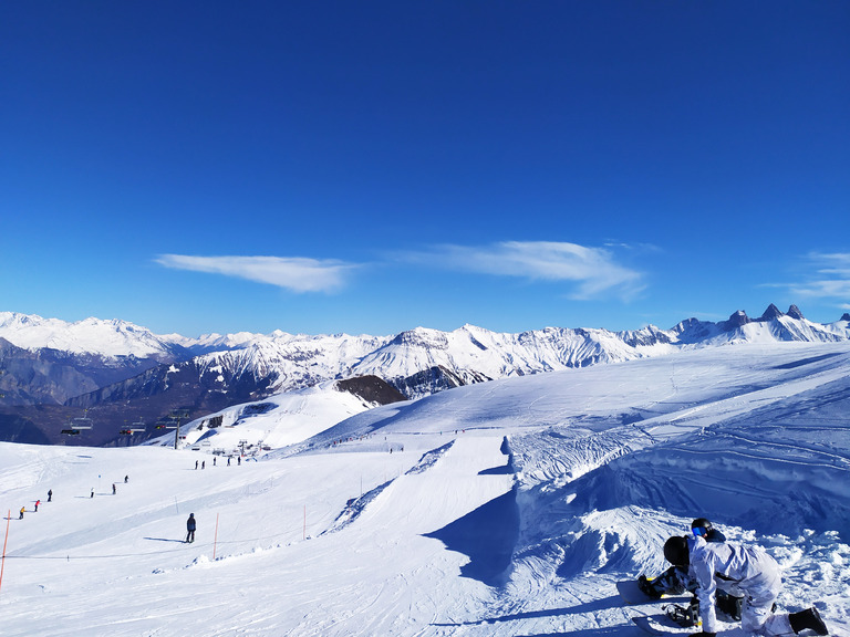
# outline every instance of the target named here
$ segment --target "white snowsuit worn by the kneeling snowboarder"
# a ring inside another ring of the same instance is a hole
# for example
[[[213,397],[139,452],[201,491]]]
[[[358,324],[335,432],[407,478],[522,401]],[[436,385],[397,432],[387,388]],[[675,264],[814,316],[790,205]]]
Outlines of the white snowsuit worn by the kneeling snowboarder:
[[[767,637],[794,635],[787,614],[774,615],[770,609],[782,587],[779,565],[760,546],[709,543],[702,537],[688,539],[691,575],[696,579],[699,617],[703,630],[717,631],[714,596],[715,575],[735,586],[745,595],[740,609],[740,627],[748,633]]]

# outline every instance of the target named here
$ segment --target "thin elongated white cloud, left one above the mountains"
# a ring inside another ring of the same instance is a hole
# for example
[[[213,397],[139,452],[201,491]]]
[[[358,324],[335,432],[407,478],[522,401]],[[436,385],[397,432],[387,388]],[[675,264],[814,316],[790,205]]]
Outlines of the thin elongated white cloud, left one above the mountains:
[[[191,257],[160,254],[157,263],[175,270],[190,270],[236,276],[277,285],[292,292],[330,292],[342,288],[356,264],[336,260],[284,257]]]

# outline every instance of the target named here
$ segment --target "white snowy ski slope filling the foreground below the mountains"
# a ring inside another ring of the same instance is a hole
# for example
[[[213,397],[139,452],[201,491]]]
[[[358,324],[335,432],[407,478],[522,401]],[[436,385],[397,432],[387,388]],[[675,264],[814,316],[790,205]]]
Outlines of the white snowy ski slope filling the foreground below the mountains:
[[[280,414],[229,435],[287,440]],[[780,610],[850,635],[847,344],[496,380],[310,435],[229,466],[0,445],[2,635],[633,637],[661,604],[615,583],[665,568],[696,516],[777,558]]]

